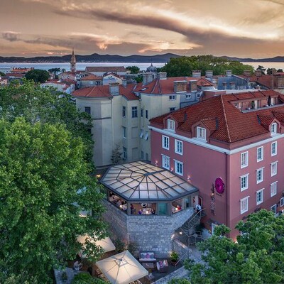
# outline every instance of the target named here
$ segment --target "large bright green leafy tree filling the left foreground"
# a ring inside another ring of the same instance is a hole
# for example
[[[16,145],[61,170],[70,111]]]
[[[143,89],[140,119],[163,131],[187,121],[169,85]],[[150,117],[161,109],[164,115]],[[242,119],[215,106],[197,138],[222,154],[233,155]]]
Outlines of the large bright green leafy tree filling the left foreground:
[[[102,194],[82,139],[65,126],[1,119],[0,131],[0,283],[9,275],[52,283],[51,269],[82,249],[78,235],[105,236]],[[92,217],[80,217],[87,209]],[[83,251],[90,260],[100,253],[93,243]]]

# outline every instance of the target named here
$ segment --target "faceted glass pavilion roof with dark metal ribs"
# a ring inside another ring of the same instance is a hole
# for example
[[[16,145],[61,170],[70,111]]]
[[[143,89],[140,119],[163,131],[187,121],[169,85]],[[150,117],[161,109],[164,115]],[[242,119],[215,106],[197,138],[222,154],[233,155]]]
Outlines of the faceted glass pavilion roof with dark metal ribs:
[[[170,171],[142,161],[113,165],[100,181],[128,201],[170,201],[198,192]]]

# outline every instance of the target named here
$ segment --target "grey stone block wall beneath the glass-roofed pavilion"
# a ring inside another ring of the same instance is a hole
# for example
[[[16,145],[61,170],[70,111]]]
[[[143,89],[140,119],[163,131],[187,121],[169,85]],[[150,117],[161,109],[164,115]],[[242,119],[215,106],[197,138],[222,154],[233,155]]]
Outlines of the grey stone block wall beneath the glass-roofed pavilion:
[[[193,214],[190,207],[173,216],[129,216],[107,200],[104,203],[107,207],[104,219],[109,223],[111,232],[123,241],[135,241],[139,251],[155,251],[157,257],[170,255],[173,233]]]

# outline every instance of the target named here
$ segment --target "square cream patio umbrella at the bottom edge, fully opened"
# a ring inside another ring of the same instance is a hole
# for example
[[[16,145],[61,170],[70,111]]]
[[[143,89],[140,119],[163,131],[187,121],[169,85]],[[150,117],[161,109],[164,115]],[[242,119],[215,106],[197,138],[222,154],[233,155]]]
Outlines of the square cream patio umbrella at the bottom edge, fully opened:
[[[96,266],[112,284],[129,284],[148,275],[148,271],[129,251],[97,261]]]

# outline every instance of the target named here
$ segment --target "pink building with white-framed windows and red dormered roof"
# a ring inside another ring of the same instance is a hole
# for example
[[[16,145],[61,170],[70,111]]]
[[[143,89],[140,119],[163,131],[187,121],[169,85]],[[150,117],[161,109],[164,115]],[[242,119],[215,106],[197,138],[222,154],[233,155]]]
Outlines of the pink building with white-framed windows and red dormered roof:
[[[222,94],[151,119],[152,163],[200,191],[207,229],[284,208],[284,95]],[[193,198],[193,197],[192,197]]]

